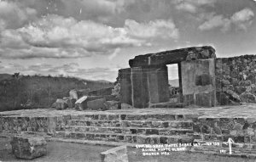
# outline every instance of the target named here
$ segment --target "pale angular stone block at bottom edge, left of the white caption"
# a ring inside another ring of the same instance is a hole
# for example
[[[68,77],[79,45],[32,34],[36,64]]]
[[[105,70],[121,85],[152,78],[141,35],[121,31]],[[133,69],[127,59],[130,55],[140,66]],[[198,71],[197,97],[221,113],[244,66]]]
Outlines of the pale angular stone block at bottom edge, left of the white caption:
[[[102,152],[102,162],[128,162],[127,147],[119,146],[117,148],[109,149],[108,151]]]

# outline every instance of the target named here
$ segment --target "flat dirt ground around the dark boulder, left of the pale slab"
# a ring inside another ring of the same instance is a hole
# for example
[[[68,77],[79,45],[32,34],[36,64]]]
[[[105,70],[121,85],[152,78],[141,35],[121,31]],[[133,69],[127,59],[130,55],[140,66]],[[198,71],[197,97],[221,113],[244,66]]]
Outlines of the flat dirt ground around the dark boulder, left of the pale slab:
[[[32,159],[16,159],[7,138],[0,138],[0,161],[31,162],[90,162],[101,161],[100,153],[112,147],[82,145],[68,142],[48,142],[47,155]]]

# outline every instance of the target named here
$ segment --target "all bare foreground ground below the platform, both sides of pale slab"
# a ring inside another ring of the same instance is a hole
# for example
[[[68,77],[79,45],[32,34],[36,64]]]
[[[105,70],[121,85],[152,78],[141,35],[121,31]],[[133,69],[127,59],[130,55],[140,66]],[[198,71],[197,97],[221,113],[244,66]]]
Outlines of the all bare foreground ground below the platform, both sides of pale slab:
[[[97,162],[100,153],[111,147],[81,145],[67,142],[48,142],[48,154],[38,159],[16,159],[11,152],[9,140],[0,138],[0,161],[32,161],[32,162]],[[130,162],[253,162],[253,159],[222,157],[210,154],[188,154],[172,152],[168,156],[143,156],[139,149],[128,148]]]

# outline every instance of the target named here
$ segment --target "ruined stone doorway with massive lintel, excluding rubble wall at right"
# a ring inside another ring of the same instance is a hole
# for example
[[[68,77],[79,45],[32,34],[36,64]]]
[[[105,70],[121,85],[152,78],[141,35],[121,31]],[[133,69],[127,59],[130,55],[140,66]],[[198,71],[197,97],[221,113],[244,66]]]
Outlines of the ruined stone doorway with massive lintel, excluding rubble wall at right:
[[[177,64],[180,102],[205,107],[216,105],[215,49],[189,47],[136,56],[128,69],[119,70],[121,103],[148,108],[169,101],[166,64]]]

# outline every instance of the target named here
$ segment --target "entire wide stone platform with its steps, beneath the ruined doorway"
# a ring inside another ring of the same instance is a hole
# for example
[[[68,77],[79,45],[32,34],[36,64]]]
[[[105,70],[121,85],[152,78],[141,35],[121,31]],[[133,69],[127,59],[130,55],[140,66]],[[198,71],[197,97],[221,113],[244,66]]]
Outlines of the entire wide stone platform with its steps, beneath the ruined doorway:
[[[0,134],[148,144],[219,142],[191,149],[217,152],[231,137],[234,153],[256,154],[256,104],[215,108],[76,111],[26,109],[0,113]]]

